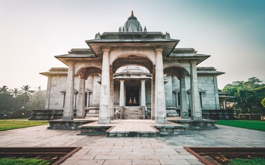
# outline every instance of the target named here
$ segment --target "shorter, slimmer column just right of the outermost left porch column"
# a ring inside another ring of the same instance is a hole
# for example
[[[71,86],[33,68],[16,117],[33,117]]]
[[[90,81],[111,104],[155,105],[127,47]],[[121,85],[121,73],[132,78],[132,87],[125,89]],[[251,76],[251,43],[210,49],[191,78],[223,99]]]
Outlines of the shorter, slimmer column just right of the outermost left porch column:
[[[85,118],[85,101],[86,101],[86,79],[79,75],[79,92],[77,103],[77,118]]]

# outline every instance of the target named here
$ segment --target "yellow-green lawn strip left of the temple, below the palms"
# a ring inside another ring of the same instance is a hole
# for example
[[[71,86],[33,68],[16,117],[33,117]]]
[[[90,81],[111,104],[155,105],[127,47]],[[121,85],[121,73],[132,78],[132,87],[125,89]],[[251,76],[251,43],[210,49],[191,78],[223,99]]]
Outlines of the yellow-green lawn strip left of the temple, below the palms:
[[[0,131],[6,131],[10,129],[21,129],[30,126],[46,125],[47,121],[34,121],[26,119],[8,119],[0,120]]]

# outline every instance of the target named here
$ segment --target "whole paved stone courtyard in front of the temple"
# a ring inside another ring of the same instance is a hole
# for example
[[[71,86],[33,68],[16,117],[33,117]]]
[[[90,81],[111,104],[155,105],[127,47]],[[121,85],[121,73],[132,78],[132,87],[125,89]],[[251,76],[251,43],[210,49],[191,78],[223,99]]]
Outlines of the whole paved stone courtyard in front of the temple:
[[[82,136],[79,131],[47,130],[34,126],[0,132],[0,147],[82,146],[66,164],[202,164],[183,146],[265,147],[265,131],[220,126],[214,130],[188,130],[166,137]]]

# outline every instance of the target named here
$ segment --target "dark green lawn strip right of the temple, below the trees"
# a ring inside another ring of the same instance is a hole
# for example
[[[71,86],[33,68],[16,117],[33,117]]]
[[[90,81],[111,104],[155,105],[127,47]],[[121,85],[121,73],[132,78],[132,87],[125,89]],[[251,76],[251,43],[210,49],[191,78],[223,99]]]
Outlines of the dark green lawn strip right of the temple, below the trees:
[[[259,120],[217,120],[216,124],[265,131],[265,121]]]

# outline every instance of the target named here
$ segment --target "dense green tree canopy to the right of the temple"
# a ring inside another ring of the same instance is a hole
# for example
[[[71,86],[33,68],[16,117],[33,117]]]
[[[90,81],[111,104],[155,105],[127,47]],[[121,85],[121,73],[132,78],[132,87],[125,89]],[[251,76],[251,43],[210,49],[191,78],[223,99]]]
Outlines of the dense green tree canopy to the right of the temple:
[[[222,90],[235,98],[234,108],[242,110],[242,113],[262,113],[265,108],[261,102],[265,98],[265,84],[259,78],[248,78],[247,81],[235,81],[228,84]]]

